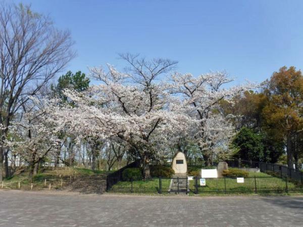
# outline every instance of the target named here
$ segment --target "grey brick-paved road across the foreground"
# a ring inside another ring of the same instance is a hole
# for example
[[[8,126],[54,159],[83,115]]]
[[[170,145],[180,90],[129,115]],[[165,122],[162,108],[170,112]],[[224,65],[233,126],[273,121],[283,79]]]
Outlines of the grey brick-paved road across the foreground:
[[[302,226],[303,197],[79,195],[0,190],[0,226]]]

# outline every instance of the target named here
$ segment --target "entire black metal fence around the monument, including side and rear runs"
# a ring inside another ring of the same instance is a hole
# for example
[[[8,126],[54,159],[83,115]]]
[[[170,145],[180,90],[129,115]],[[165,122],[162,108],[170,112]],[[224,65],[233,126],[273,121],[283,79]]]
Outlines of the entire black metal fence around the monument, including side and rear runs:
[[[203,160],[191,158],[191,165],[200,166]],[[241,159],[227,160],[230,167],[259,168],[261,172],[272,172],[266,177],[248,177],[244,183],[235,183],[234,178],[206,179],[206,186],[200,186],[199,178],[149,178],[140,181],[122,181],[122,172],[129,167],[138,167],[133,162],[108,175],[107,191],[122,193],[266,193],[266,192],[303,192],[303,173],[280,164],[254,162]],[[193,183],[194,182],[194,183]],[[184,189],[186,185],[186,188]]]

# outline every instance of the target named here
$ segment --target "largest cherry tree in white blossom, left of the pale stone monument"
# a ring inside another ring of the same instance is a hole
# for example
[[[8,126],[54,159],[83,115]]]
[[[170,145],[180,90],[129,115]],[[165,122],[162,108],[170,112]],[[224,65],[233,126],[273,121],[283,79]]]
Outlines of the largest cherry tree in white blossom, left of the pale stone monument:
[[[121,55],[130,67],[125,73],[108,65],[91,68],[91,75],[101,83],[87,91],[66,91],[76,103],[69,110],[81,125],[72,131],[102,139],[116,138],[129,145],[129,154],[141,161],[145,178],[150,176],[149,163],[162,155],[161,146],[169,143],[172,131],[185,130],[188,119],[170,106],[167,86],[157,81],[170,72],[176,62],[164,59],[146,61],[137,55]],[[63,117],[69,116],[63,113]],[[72,122],[67,120],[67,122]]]

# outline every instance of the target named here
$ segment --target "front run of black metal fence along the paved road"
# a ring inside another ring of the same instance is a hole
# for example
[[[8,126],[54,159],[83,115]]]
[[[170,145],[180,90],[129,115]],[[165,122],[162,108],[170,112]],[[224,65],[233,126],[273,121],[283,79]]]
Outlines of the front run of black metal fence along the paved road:
[[[111,179],[112,181],[114,179]],[[243,180],[241,183],[239,180]],[[117,182],[114,180],[114,182]],[[109,192],[119,193],[283,193],[303,192],[303,184],[287,177],[237,178],[149,178],[138,181],[120,181],[111,184]]]

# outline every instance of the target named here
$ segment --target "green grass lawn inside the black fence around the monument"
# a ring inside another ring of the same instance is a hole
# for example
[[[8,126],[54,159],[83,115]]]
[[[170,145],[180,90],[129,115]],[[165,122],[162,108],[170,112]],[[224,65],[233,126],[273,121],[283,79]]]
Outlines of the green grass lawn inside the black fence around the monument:
[[[162,193],[168,193],[171,179],[162,179]],[[158,193],[159,179],[148,179],[131,182],[118,182],[113,185],[110,192],[121,193]],[[286,186],[287,185],[287,186]],[[303,191],[302,185],[287,182],[285,179],[272,177],[265,173],[249,172],[244,183],[237,183],[235,178],[206,179],[206,186],[199,186],[198,193],[281,193]],[[257,189],[257,191],[255,191]],[[190,193],[195,192],[195,180],[189,181]]]

